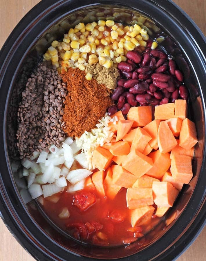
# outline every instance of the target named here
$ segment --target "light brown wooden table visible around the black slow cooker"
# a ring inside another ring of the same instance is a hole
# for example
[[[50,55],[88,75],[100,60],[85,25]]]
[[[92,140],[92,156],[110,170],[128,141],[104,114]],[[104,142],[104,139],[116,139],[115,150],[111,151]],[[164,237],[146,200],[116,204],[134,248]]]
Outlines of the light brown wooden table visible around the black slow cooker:
[[[47,0],[48,1],[48,0]],[[0,48],[9,36],[12,29],[19,20],[33,7],[39,0],[0,0]],[[205,0],[175,0],[187,14],[196,22],[204,34],[206,34],[205,22]],[[0,219],[1,244],[0,261],[32,261],[32,258],[13,238],[6,226]],[[200,233],[196,241],[178,258],[178,261],[202,261],[206,254],[206,227]]]

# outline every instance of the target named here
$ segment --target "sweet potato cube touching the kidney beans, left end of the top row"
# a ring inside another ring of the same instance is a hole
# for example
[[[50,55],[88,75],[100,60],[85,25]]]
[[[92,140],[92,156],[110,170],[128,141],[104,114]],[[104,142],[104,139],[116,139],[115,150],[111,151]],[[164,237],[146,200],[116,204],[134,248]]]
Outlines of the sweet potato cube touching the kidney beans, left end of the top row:
[[[131,107],[127,114],[127,119],[134,121],[132,127],[143,127],[152,121],[152,107]]]

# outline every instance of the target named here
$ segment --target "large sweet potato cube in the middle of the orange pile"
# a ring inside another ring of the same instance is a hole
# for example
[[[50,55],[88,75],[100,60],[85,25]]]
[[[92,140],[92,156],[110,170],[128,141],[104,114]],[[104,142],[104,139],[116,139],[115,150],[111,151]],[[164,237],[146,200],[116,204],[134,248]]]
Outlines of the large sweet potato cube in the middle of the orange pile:
[[[122,166],[136,177],[141,177],[147,173],[153,165],[150,157],[137,150],[132,150],[126,156],[122,156]]]

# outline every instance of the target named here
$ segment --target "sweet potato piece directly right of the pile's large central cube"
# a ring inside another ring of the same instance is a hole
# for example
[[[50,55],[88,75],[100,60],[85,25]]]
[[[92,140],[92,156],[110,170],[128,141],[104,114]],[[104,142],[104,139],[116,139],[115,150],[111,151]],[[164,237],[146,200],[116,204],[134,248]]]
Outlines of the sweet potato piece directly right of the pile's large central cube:
[[[153,166],[147,171],[147,175],[156,179],[161,179],[171,165],[169,153],[161,153],[160,150],[157,150],[151,152],[148,156],[153,160]]]

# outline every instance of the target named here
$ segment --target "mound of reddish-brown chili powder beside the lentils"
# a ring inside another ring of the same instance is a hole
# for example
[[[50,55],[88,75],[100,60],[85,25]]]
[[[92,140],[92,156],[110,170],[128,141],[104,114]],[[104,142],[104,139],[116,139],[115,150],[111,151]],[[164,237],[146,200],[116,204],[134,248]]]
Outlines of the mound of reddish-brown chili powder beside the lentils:
[[[95,79],[86,80],[85,72],[78,68],[68,68],[61,77],[68,90],[64,102],[64,131],[69,136],[80,137],[84,131],[95,127],[113,101],[106,86],[98,84]]]

